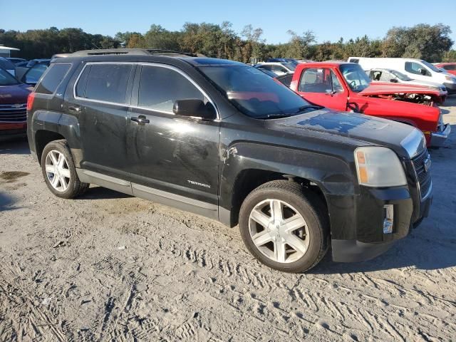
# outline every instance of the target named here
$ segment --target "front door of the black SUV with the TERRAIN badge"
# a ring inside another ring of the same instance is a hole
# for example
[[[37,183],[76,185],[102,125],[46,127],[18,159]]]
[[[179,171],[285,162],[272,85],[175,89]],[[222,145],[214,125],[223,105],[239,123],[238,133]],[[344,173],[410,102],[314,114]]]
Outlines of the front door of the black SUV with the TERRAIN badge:
[[[172,66],[138,66],[129,113],[128,156],[133,193],[151,189],[218,204],[219,122],[177,116],[176,100],[209,98]],[[170,196],[160,192],[160,196]],[[182,198],[177,197],[182,201]]]

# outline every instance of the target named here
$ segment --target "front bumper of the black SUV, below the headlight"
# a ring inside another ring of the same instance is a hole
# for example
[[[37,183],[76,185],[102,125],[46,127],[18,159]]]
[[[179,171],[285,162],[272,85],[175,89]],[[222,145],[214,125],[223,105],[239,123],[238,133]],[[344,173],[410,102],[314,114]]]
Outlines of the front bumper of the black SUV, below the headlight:
[[[363,189],[361,195],[354,199],[354,217],[348,218],[351,222],[337,222],[343,220],[342,217],[337,218],[337,210],[336,217],[330,216],[333,261],[366,261],[378,257],[396,241],[406,237],[411,229],[418,227],[429,215],[431,203],[432,190],[420,199],[418,190],[407,187]],[[343,203],[333,201],[333,204],[341,207]],[[345,201],[342,206],[345,210],[349,209],[347,204]],[[394,207],[393,232],[388,234],[383,233],[385,204],[393,204]],[[350,216],[348,212],[347,216]]]

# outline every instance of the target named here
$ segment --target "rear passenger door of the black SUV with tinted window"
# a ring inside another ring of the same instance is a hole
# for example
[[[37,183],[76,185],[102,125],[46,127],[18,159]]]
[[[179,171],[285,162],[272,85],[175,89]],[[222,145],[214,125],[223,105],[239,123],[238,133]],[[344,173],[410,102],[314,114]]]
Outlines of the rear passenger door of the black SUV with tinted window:
[[[88,63],[78,76],[66,110],[78,116],[86,170],[128,179],[125,133],[134,71],[133,63]]]

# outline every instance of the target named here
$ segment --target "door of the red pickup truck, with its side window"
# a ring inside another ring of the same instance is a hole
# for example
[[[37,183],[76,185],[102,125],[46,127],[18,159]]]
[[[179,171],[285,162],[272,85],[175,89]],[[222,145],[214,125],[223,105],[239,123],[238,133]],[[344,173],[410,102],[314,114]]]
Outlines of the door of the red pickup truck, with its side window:
[[[306,68],[301,73],[298,93],[324,107],[346,110],[348,91],[331,68]]]

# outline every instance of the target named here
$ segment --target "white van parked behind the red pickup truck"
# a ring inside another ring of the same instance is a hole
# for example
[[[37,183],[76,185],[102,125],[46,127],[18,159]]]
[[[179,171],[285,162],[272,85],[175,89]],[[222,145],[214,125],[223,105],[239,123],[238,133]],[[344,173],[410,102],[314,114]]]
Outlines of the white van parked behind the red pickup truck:
[[[392,69],[415,80],[442,83],[448,94],[456,94],[456,77],[442,72],[422,59],[349,57],[348,62],[358,63],[364,71],[376,68]]]

